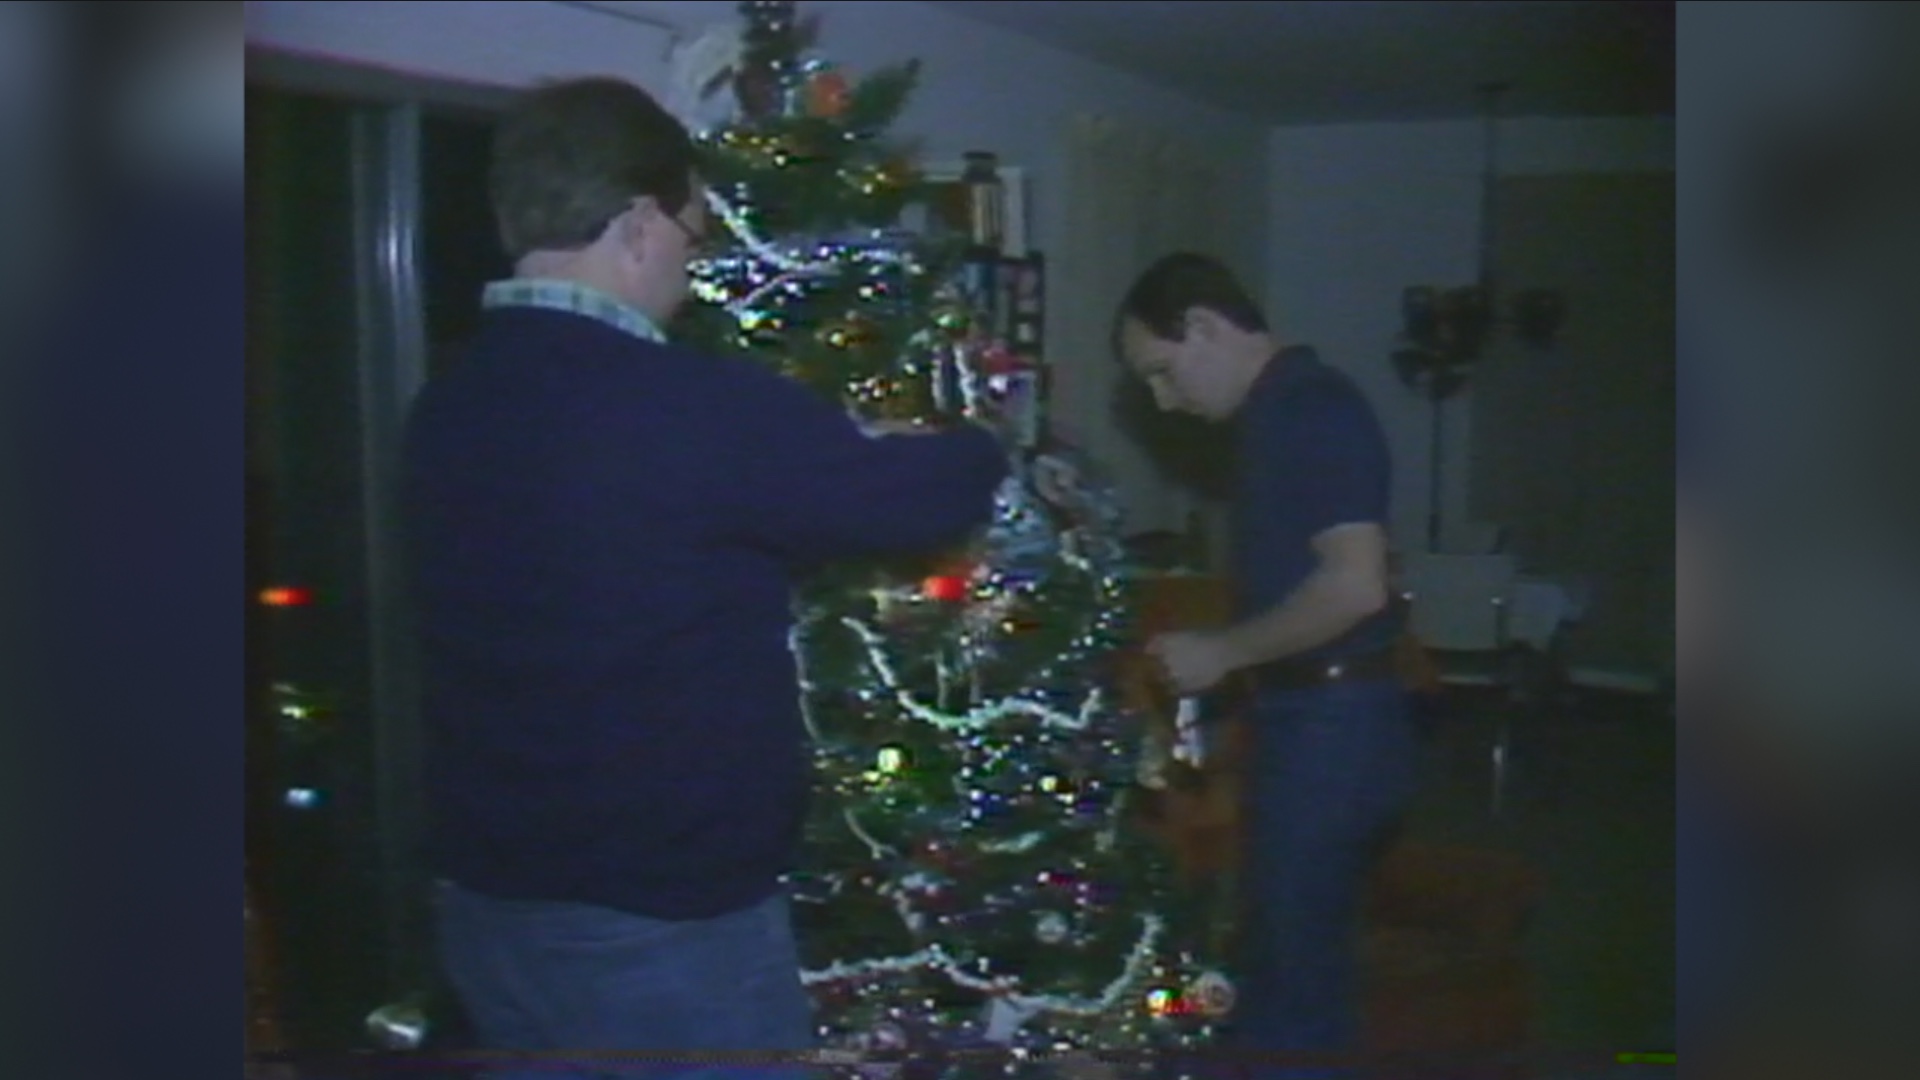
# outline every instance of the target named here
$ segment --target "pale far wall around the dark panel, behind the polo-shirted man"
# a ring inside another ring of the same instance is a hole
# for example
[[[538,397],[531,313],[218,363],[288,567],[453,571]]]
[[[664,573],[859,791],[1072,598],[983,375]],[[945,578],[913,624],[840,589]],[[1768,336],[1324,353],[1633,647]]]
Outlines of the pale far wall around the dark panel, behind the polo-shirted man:
[[[1421,546],[1427,402],[1388,359],[1409,284],[1473,284],[1480,252],[1478,121],[1284,127],[1267,138],[1267,311],[1373,398],[1394,446],[1394,540]],[[1672,171],[1670,119],[1511,119],[1503,175]],[[1471,392],[1448,405],[1444,502],[1467,519]]]

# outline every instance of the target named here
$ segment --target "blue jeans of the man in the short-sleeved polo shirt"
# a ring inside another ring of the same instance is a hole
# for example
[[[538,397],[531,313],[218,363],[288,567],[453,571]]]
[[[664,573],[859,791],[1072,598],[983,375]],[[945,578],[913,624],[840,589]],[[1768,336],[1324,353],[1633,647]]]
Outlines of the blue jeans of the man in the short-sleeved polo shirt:
[[[1359,903],[1417,782],[1411,707],[1384,680],[1269,692],[1254,744],[1235,1036],[1254,1076],[1348,1076],[1284,1061],[1357,1049]]]

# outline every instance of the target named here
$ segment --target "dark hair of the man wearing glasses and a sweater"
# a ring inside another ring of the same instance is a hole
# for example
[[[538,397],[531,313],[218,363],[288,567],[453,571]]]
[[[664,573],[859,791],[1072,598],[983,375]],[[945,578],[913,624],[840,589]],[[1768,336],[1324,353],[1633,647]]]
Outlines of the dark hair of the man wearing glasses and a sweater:
[[[528,90],[493,131],[488,186],[513,258],[591,244],[639,196],[680,213],[693,198],[695,150],[670,111],[612,77]]]

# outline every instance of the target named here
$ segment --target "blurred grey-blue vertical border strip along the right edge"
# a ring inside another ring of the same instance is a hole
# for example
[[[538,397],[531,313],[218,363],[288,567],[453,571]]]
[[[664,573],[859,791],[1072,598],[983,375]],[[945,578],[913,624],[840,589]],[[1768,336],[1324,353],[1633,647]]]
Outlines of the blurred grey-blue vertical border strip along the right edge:
[[[1745,934],[1701,957],[1741,967],[1684,1005],[1730,1009],[1686,1051],[1709,1076],[1914,1076],[1920,4],[1682,2],[1678,37],[1682,559],[1707,578],[1682,596],[1705,584],[1718,661],[1684,673],[1682,738],[1713,738],[1682,805],[1713,830],[1682,842],[1705,905],[1682,957]]]

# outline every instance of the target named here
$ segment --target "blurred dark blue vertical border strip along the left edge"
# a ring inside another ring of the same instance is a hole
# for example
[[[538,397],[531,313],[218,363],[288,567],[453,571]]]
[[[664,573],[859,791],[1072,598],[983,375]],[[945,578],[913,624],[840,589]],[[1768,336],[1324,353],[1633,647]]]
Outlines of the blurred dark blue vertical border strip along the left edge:
[[[4,1072],[225,1074],[244,10],[0,10]]]

